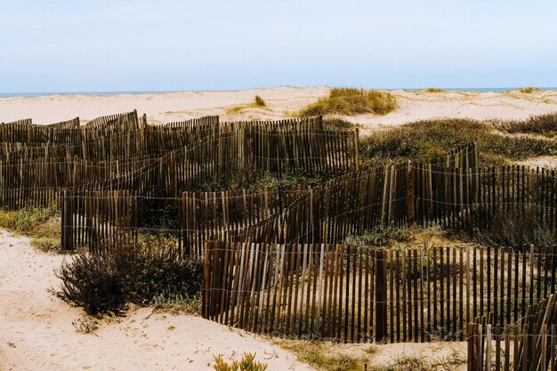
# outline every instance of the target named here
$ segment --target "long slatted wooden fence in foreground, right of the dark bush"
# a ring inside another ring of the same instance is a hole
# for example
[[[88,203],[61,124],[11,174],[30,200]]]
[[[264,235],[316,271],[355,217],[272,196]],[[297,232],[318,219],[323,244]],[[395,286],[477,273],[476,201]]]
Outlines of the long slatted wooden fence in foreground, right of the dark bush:
[[[343,342],[466,338],[491,313],[528,317],[555,290],[557,255],[501,247],[207,242],[203,315],[254,333]]]

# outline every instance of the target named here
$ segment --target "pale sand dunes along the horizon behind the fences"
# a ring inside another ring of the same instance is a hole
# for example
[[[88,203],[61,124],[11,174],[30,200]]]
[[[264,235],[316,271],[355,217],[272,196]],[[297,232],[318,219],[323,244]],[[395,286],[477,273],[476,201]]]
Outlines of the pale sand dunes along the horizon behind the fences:
[[[327,86],[277,87],[230,92],[181,92],[101,95],[54,95],[44,97],[0,98],[0,122],[33,118],[48,124],[80,117],[94,117],[137,109],[152,123],[180,121],[205,115],[220,115],[223,120],[278,119],[290,117],[329,92]],[[392,91],[399,108],[385,116],[347,117],[364,129],[382,125],[401,125],[418,119],[469,117],[475,119],[521,119],[531,115],[557,112],[557,91],[520,93],[406,92]],[[260,95],[268,107],[230,110],[254,101]]]

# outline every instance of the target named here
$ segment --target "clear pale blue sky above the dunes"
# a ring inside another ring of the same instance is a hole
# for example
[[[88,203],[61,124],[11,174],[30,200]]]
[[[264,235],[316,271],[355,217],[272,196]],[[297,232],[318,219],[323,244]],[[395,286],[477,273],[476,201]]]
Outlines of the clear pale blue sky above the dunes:
[[[555,0],[2,0],[0,92],[557,86]]]

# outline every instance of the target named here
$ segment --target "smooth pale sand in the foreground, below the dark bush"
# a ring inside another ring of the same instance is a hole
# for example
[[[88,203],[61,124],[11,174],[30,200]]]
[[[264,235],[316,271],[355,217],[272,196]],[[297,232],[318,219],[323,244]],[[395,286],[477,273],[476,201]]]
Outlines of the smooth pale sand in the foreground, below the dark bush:
[[[92,334],[72,322],[91,319],[52,296],[61,255],[44,254],[28,238],[0,231],[0,370],[191,370],[213,369],[213,356],[235,359],[257,353],[269,371],[310,370],[277,345],[195,316],[132,311],[103,319]]]

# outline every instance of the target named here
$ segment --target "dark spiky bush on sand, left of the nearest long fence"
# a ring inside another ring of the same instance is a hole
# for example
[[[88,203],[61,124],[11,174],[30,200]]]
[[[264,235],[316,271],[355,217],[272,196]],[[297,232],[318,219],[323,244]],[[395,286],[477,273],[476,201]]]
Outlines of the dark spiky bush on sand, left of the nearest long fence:
[[[62,281],[58,296],[96,315],[120,313],[129,302],[146,305],[160,294],[193,298],[201,289],[203,266],[178,258],[174,247],[122,238],[98,254],[78,253],[56,275]]]

